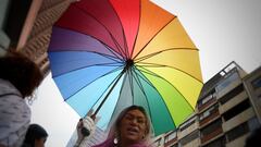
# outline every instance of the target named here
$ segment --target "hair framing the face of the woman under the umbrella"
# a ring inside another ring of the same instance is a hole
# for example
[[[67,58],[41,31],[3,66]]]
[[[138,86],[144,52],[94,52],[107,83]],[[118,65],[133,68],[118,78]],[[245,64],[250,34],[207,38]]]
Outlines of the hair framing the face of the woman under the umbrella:
[[[142,108],[142,107],[140,107],[140,106],[130,106],[130,107],[128,107],[128,108],[125,108],[120,114],[119,114],[119,117],[117,117],[117,119],[116,119],[116,121],[115,121],[115,130],[117,130],[119,127],[120,127],[120,125],[121,125],[121,121],[122,121],[122,119],[125,117],[125,114],[128,112],[128,111],[132,111],[132,110],[139,110],[144,115],[145,115],[145,118],[146,118],[146,136],[150,133],[150,119],[149,119],[149,117],[148,117],[148,114],[147,114],[147,112],[146,112],[146,110]]]

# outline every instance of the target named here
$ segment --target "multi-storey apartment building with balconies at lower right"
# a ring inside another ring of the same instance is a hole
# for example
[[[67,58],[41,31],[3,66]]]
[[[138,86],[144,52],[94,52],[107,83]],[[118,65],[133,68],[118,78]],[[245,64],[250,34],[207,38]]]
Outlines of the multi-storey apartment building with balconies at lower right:
[[[244,147],[260,126],[261,68],[250,74],[235,62],[209,79],[195,113],[176,131],[153,139],[157,147]]]

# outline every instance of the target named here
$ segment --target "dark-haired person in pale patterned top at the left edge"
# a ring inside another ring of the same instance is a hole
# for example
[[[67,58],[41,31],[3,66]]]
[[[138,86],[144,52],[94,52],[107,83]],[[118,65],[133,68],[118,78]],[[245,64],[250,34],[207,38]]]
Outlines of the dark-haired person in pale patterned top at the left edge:
[[[44,79],[39,68],[22,53],[9,50],[0,58],[0,146],[21,147],[30,122],[34,90]]]

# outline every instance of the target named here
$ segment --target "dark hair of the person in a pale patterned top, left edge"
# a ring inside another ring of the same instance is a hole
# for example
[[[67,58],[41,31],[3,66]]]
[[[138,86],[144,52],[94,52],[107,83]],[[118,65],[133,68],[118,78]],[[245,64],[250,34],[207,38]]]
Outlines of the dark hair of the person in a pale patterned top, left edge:
[[[40,69],[35,62],[21,52],[9,50],[0,58],[0,78],[11,82],[22,94],[23,98],[32,96],[44,79]]]

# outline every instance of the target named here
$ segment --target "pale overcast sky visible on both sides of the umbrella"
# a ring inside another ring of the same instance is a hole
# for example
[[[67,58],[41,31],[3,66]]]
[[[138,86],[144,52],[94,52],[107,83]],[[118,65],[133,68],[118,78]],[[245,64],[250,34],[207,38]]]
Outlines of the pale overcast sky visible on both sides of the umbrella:
[[[152,0],[177,15],[199,49],[203,81],[232,61],[246,72],[261,65],[260,0]],[[63,147],[79,117],[65,102],[48,75],[32,106],[33,123],[49,133],[48,147]]]

